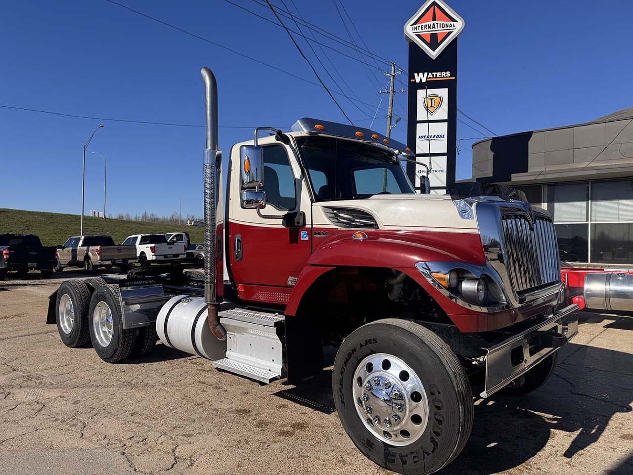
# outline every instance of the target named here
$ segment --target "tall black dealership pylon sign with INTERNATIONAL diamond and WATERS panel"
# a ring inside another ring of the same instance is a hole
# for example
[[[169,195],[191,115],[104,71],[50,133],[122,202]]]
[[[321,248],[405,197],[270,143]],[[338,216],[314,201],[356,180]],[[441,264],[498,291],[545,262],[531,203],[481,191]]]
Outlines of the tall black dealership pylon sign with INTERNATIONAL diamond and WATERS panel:
[[[457,141],[457,36],[464,20],[442,0],[427,0],[404,24],[409,41],[407,143],[429,163],[432,193],[455,182]],[[407,163],[407,175],[420,190],[420,175]]]

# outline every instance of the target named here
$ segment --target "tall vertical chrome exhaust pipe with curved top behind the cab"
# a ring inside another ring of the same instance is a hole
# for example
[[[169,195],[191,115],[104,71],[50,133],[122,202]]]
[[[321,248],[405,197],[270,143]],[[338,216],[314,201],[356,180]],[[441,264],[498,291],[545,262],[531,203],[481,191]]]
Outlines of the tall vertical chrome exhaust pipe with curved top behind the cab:
[[[218,170],[222,158],[218,150],[218,84],[209,68],[200,71],[206,92],[206,149],[204,150],[204,302],[207,304],[209,329],[218,339],[224,340],[227,332],[220,324],[220,302],[216,288],[218,261],[217,209]]]

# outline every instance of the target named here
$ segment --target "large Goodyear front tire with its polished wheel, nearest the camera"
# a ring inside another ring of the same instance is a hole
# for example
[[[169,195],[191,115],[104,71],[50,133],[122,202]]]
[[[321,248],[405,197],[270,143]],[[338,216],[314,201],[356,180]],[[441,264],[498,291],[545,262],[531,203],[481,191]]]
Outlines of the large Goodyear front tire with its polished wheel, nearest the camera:
[[[337,352],[332,387],[354,445],[386,469],[436,472],[470,436],[472,392],[459,359],[410,321],[384,319],[353,331]]]

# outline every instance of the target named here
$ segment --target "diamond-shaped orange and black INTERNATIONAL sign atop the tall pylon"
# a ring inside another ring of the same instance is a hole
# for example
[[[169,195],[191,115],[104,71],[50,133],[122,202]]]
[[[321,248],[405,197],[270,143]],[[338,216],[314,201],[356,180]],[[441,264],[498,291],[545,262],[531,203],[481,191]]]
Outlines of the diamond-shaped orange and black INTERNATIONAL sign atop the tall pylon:
[[[404,23],[406,39],[436,59],[464,28],[464,20],[442,0],[428,0]]]

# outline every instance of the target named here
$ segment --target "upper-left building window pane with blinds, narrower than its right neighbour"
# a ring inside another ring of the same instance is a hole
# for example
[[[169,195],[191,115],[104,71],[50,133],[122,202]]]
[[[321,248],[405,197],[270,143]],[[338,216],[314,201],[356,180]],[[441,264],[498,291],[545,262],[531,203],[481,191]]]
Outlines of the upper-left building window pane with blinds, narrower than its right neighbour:
[[[548,211],[555,223],[586,223],[588,202],[589,183],[548,185]]]

